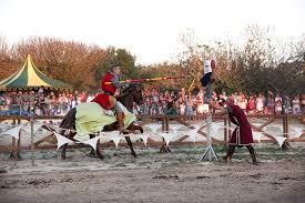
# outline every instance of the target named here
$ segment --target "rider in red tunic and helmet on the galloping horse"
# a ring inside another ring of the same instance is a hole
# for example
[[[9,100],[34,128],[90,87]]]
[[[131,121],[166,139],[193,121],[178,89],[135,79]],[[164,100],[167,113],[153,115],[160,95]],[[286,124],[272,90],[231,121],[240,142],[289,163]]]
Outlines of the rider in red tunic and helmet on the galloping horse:
[[[124,112],[122,109],[122,104],[116,101],[116,97],[120,95],[120,88],[124,85],[124,83],[119,82],[121,77],[121,68],[115,64],[112,65],[110,71],[101,80],[101,89],[102,93],[96,95],[92,102],[96,102],[102,105],[104,109],[114,109],[116,113],[116,121],[119,123],[119,131],[121,133],[128,133],[124,129]],[[111,82],[110,84],[105,84],[106,82]],[[130,82],[126,80],[125,82]]]

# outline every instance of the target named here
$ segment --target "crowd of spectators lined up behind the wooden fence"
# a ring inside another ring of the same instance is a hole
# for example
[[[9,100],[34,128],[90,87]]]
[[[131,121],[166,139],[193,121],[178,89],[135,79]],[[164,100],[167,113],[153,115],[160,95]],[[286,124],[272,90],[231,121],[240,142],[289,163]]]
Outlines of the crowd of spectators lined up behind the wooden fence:
[[[196,93],[185,89],[174,91],[160,91],[156,88],[143,92],[144,103],[134,103],[135,114],[174,114],[174,115],[197,115],[209,111],[209,104],[204,102],[205,91],[200,89]],[[282,114],[282,113],[305,113],[305,93],[302,95],[282,95],[267,92],[246,94],[235,92],[232,94],[235,104],[241,106],[247,114]],[[213,93],[213,101],[221,106],[225,105],[227,93]],[[19,114],[58,115],[65,114],[71,108],[79,103],[90,102],[94,94],[78,91],[54,92],[51,90],[38,91],[11,91],[0,93],[0,112],[9,114],[12,110]]]

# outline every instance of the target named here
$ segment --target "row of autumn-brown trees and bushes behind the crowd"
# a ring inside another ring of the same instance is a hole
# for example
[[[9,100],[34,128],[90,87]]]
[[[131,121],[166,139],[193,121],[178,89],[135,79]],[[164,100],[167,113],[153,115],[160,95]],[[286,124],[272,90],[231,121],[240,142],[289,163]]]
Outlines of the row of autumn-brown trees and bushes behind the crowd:
[[[216,91],[305,92],[305,39],[279,42],[271,29],[248,26],[238,42],[226,39],[202,42],[189,30],[179,37],[181,44],[176,62],[135,65],[135,55],[125,49],[88,45],[57,38],[32,37],[8,45],[0,37],[0,79],[21,68],[27,54],[45,74],[65,81],[78,90],[96,91],[102,75],[118,63],[123,79],[181,77],[150,83],[163,89],[201,88],[203,61],[216,59],[220,80]]]

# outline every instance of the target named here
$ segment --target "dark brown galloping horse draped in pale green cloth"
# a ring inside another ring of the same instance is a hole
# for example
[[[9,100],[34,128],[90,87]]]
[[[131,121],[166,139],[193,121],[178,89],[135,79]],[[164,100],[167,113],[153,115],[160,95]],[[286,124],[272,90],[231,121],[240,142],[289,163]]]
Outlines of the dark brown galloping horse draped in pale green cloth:
[[[142,98],[142,90],[139,85],[130,85],[129,88],[126,88],[122,94],[120,95],[120,98],[118,98],[118,100],[130,111],[132,112],[132,108],[133,108],[133,102],[135,102],[136,104],[141,104],[143,102],[143,98]],[[73,130],[73,132],[69,131],[69,130],[62,130],[60,132],[60,134],[67,136],[70,140],[73,140],[73,136],[77,134],[75,133],[75,114],[77,114],[77,109],[73,108],[71,109],[65,116],[63,118],[63,120],[60,123],[60,128],[62,129],[70,129]],[[114,131],[118,130],[118,122],[114,122],[110,125],[105,125],[103,131]],[[135,130],[140,130],[141,133],[143,133],[143,129],[140,125],[135,125],[134,123],[131,123],[128,126],[128,130],[130,132],[134,132]],[[90,139],[94,138],[94,134],[90,134]],[[130,140],[130,136],[125,136],[125,140],[130,146],[131,150],[131,154],[136,158],[136,153],[133,150],[132,146],[132,142]],[[62,153],[61,153],[61,158],[65,159],[65,150],[67,150],[68,144],[64,144],[62,146]],[[95,154],[94,150],[92,149],[91,155]],[[96,144],[96,155],[100,159],[103,159],[103,155],[99,149],[99,142]]]

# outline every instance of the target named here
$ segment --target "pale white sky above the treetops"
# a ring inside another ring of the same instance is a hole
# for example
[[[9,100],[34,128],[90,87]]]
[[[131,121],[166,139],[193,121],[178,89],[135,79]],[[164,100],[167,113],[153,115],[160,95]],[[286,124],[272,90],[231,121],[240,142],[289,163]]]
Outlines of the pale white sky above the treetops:
[[[136,63],[175,60],[179,34],[241,39],[247,24],[279,39],[305,34],[305,0],[0,0],[0,35],[32,35],[129,50]]]

